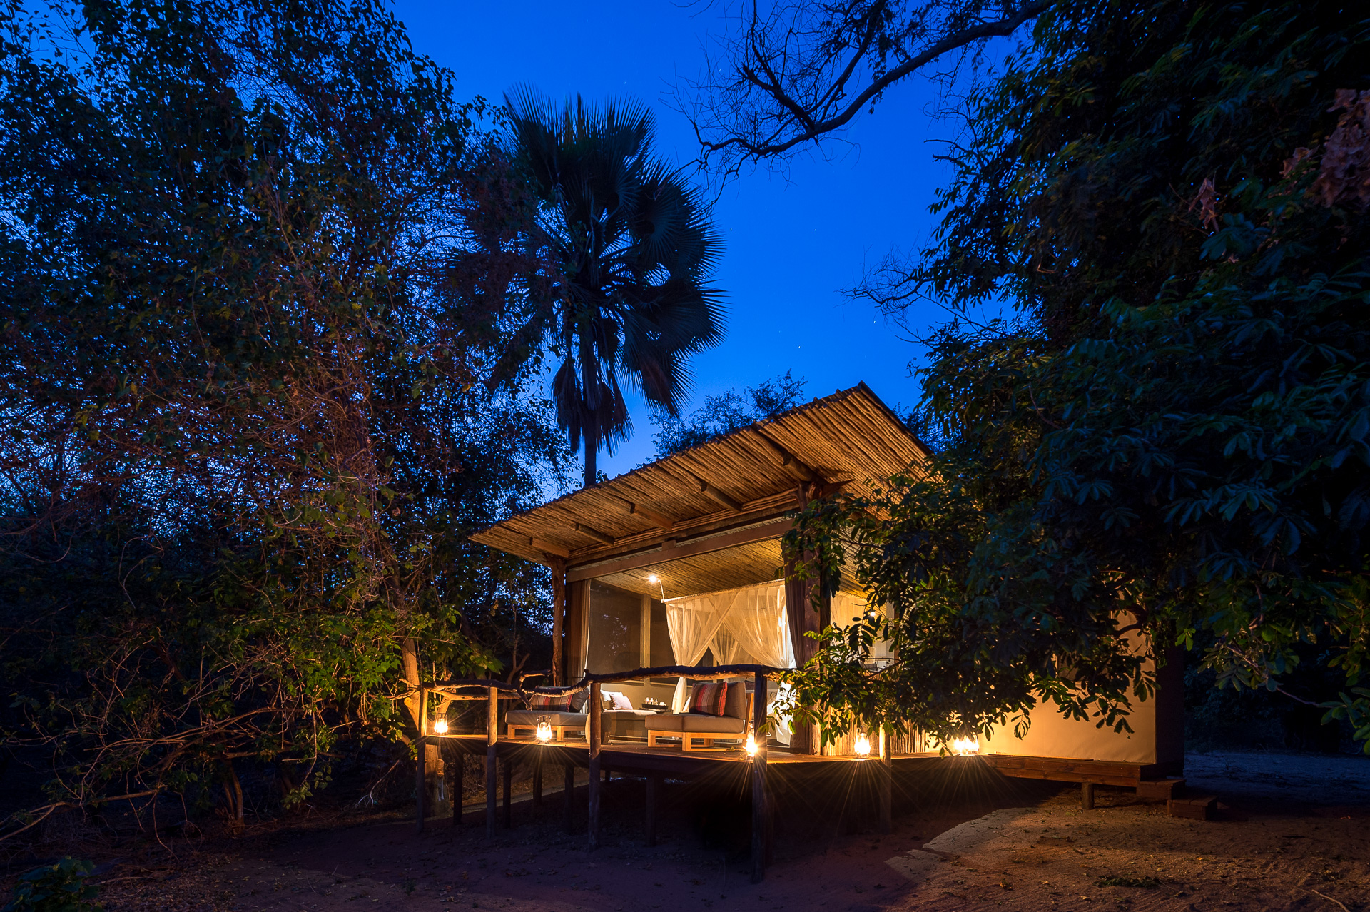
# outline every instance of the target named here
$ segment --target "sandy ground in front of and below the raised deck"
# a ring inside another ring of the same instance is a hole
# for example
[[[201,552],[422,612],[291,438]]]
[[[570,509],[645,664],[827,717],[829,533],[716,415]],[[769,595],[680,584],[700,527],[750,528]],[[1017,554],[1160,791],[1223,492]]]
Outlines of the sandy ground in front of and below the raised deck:
[[[412,820],[247,837],[115,865],[104,901],[110,912],[1370,909],[1370,759],[1214,753],[1186,764],[1223,819],[1169,818],[1122,790],[1081,811],[1077,789],[1017,783],[923,797],[889,835],[800,807],[780,820],[759,886],[737,841],[719,845],[700,827],[699,796],[677,793],[647,848],[640,783],[626,781],[607,790],[606,845],[593,854],[584,833],[562,831],[560,796],[549,796],[537,820],[515,807],[515,827],[493,844],[484,826],[449,820],[423,837]]]

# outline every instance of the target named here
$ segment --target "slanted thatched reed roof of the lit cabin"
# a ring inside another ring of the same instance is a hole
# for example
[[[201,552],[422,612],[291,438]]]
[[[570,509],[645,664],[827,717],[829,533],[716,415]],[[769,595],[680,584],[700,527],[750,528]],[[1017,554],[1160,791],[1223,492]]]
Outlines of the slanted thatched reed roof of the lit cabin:
[[[799,487],[870,492],[919,472],[923,446],[870,388],[859,383],[510,516],[473,541],[537,563],[603,564],[662,548],[708,550],[708,540],[764,533],[797,507]],[[743,530],[743,531],[738,531]],[[693,542],[693,546],[692,546]],[[577,574],[584,575],[584,574]]]

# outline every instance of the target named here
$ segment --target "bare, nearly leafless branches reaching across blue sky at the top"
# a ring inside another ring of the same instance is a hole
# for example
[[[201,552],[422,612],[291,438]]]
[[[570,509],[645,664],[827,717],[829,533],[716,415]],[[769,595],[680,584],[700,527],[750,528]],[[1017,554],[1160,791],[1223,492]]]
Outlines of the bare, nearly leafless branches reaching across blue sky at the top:
[[[743,5],[704,74],[677,90],[700,167],[734,174],[819,148],[891,88],[930,67],[955,71],[1049,0],[786,0]]]

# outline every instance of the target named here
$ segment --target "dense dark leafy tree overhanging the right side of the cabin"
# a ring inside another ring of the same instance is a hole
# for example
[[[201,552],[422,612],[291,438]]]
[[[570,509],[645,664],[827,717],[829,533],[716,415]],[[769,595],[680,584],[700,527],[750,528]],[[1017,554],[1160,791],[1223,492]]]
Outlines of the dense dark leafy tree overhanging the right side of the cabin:
[[[1045,697],[1125,727],[1134,630],[1219,686],[1334,670],[1289,696],[1370,745],[1370,21],[1112,0],[1034,40],[971,100],[938,245],[877,289],[1018,319],[932,335],[930,477],[803,519],[790,545],[832,578],[848,542],[896,618],[827,631],[800,697],[944,737]],[[873,638],[899,661],[867,668]]]

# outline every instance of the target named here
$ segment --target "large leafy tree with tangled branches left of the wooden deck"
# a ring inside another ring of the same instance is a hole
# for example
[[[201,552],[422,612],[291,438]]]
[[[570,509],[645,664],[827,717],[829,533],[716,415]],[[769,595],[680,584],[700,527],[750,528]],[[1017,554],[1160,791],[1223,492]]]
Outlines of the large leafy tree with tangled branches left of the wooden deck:
[[[378,4],[41,14],[0,19],[5,737],[68,804],[222,779],[241,819],[234,763],[299,800],[536,601],[464,541],[567,456],[441,293],[499,215],[482,105]]]

